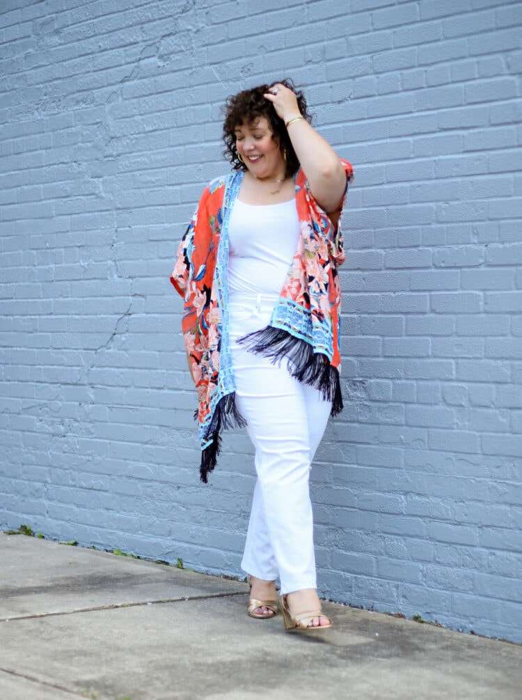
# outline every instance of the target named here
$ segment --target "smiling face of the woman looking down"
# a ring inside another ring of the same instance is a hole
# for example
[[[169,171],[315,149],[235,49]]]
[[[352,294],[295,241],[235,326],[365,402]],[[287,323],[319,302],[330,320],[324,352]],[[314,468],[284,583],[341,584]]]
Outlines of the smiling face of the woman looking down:
[[[285,176],[286,162],[279,150],[278,140],[272,139],[266,117],[251,123],[242,123],[235,130],[236,148],[248,171],[260,179],[281,179]]]

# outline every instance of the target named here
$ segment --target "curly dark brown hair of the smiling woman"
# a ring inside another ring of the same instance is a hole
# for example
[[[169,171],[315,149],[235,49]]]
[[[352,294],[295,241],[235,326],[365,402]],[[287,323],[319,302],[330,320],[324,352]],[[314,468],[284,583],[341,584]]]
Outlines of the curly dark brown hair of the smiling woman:
[[[308,123],[311,123],[311,116],[308,113],[306,99],[301,90],[296,90],[292,80],[285,78],[283,80],[274,80],[275,83],[282,83],[285,87],[295,92],[297,97],[297,106],[302,116]],[[236,129],[243,123],[251,124],[255,119],[265,117],[268,120],[272,139],[279,140],[279,149],[281,153],[286,155],[286,176],[294,175],[299,169],[299,160],[292,146],[292,141],[288,136],[285,128],[285,123],[278,117],[274,105],[264,97],[264,94],[269,91],[270,85],[258,85],[251,87],[250,90],[242,90],[237,94],[227,97],[227,102],[223,107],[225,113],[225,123],[223,123],[223,141],[225,141],[225,151],[223,155],[230,160],[234,170],[246,170],[246,165],[237,157],[236,148]]]

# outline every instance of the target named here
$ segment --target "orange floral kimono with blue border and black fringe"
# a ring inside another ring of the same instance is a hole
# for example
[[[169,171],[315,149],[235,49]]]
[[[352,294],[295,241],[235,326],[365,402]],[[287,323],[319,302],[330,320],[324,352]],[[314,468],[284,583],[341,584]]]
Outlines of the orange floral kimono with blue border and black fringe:
[[[353,169],[347,161],[341,163],[347,191]],[[221,430],[244,425],[235,405],[227,285],[228,222],[243,175],[234,172],[205,188],[171,274],[185,300],[182,329],[199,400],[200,474],[205,483],[216,466]],[[338,221],[332,223],[313,199],[304,172],[297,172],[295,205],[301,235],[295,257],[269,325],[240,341],[274,363],[288,360],[292,376],[332,401],[332,415],[343,407],[337,268],[345,260],[340,225],[345,199],[346,192]]]

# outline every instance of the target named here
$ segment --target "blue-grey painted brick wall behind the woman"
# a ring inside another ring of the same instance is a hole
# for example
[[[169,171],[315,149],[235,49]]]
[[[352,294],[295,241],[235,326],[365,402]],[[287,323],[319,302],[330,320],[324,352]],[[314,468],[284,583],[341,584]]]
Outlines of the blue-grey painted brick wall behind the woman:
[[[220,106],[291,76],[355,166],[322,593],[522,641],[522,3],[3,0],[0,525],[240,575],[168,275]]]

